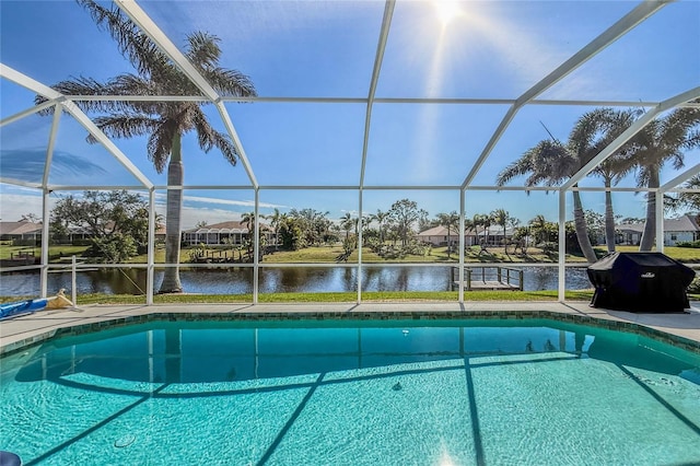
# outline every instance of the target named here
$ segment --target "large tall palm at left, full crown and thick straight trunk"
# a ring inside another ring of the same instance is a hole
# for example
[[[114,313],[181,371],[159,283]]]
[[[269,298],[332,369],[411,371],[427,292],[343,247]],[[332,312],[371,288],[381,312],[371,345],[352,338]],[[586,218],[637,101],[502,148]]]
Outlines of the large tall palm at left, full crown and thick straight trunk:
[[[117,7],[105,8],[93,0],[77,0],[100,27],[105,27],[117,42],[119,51],[135,67],[137,74],[119,74],[104,83],[90,78],[61,81],[54,86],[66,95],[200,95],[197,85],[159,49]],[[185,56],[217,91],[232,96],[255,96],[248,77],[219,66],[219,38],[203,32],[187,36]],[[37,97],[36,103],[44,98]],[[130,138],[149,136],[148,158],[158,173],[167,165],[167,185],[182,186],[184,179],[182,137],[194,131],[199,147],[209,152],[218,148],[235,165],[238,153],[230,138],[211,127],[202,102],[175,101],[75,101],[85,112],[103,113],[94,119],[107,136]],[[89,141],[95,142],[93,138]],[[170,160],[170,163],[168,163]],[[165,260],[179,264],[182,189],[167,190]],[[160,292],[182,292],[177,267],[165,269]]]

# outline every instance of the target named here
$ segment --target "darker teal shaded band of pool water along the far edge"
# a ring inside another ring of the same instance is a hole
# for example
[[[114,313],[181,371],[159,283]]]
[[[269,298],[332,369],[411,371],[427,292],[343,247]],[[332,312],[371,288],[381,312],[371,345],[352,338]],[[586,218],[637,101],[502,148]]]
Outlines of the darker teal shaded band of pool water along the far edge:
[[[86,373],[132,382],[231,382],[428,361],[457,361],[460,368],[464,358],[480,368],[501,363],[493,356],[538,353],[551,354],[510,363],[592,358],[681,376],[697,369],[690,353],[677,359],[665,345],[640,345],[633,334],[520,325],[226,328],[223,323],[154,323],[47,342],[22,363],[15,380],[60,382]],[[479,357],[488,358],[474,359]]]

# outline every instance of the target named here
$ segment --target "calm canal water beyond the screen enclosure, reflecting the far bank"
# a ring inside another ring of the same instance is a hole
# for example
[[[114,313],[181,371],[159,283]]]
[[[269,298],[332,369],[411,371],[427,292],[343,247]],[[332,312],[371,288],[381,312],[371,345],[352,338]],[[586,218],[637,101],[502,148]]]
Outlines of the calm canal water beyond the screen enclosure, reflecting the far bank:
[[[556,290],[557,267],[521,267],[525,291]],[[479,269],[476,269],[479,270]],[[491,272],[494,273],[494,268]],[[488,270],[487,270],[488,271]],[[363,291],[447,291],[452,284],[452,267],[362,267]],[[475,273],[477,273],[475,271]],[[480,273],[480,271],[479,271]],[[155,291],[163,271],[155,272]],[[253,269],[180,269],[183,288],[188,293],[243,294],[253,292]],[[101,269],[77,275],[78,293],[144,294],[144,269]],[[585,268],[568,268],[568,290],[591,288]],[[265,267],[260,268],[260,293],[357,291],[357,269],[343,267]],[[48,292],[71,289],[70,272],[48,276]],[[0,295],[37,295],[40,291],[38,273],[3,273]]]

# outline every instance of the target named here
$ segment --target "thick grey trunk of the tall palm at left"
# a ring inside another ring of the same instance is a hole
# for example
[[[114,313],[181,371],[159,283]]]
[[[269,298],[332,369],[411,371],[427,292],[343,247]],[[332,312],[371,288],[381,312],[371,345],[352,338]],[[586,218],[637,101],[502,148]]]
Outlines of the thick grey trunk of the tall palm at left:
[[[183,162],[180,136],[173,138],[173,149],[171,151],[171,161],[167,165],[167,185],[183,185]],[[180,213],[183,210],[183,190],[167,190],[167,208],[165,217],[165,263],[179,265],[179,243],[180,243]],[[167,267],[163,275],[163,283],[161,284],[161,293],[182,293],[183,284],[179,281],[179,268]]]

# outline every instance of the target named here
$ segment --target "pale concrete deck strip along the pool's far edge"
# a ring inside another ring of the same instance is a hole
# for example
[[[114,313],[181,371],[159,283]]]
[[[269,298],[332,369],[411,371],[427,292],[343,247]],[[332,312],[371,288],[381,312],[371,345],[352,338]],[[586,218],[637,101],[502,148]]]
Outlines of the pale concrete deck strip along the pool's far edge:
[[[173,319],[178,315],[201,316],[201,319],[392,319],[392,318],[541,318],[550,314],[572,323],[607,322],[610,326],[640,326],[654,335],[669,336],[672,342],[691,342],[700,349],[700,302],[690,310],[673,314],[635,314],[590,307],[587,302],[404,302],[404,303],[327,303],[327,304],[187,304],[187,305],[100,305],[70,310],[38,311],[0,322],[0,354],[51,338],[62,329],[80,328],[94,331],[110,325],[137,324],[159,317]]]

